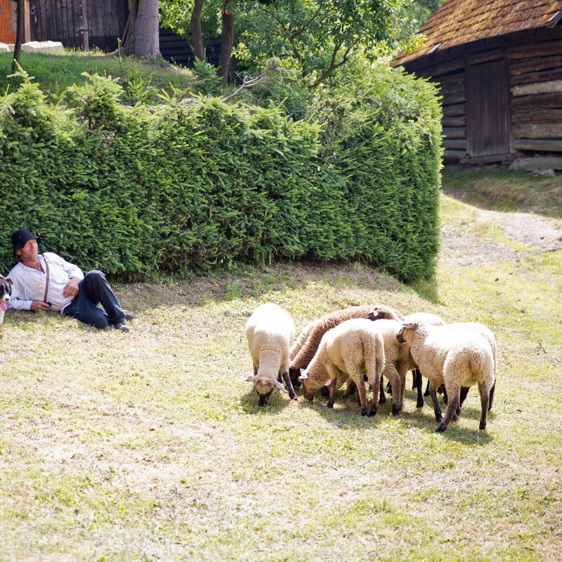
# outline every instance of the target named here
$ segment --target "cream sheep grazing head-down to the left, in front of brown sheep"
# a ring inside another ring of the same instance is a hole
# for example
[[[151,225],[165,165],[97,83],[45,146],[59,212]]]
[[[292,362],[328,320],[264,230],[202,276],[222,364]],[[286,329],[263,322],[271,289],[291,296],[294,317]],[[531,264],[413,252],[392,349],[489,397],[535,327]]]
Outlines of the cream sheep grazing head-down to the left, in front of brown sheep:
[[[377,414],[376,389],[384,367],[384,343],[378,322],[365,318],[352,318],[328,330],[320,341],[318,350],[299,379],[307,400],[322,386],[330,387],[327,407],[334,406],[336,388],[351,379],[358,388],[362,416]],[[367,411],[367,393],[363,372],[373,385],[373,400]]]

